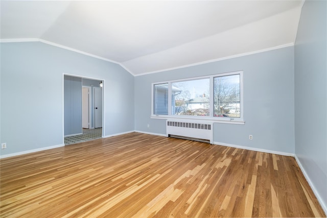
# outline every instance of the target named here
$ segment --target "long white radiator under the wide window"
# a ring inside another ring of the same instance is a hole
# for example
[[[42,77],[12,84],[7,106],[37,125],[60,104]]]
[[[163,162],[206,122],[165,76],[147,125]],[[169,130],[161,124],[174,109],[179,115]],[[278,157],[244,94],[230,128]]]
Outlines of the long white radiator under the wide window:
[[[194,120],[167,120],[167,137],[186,138],[198,141],[214,141],[213,123]]]

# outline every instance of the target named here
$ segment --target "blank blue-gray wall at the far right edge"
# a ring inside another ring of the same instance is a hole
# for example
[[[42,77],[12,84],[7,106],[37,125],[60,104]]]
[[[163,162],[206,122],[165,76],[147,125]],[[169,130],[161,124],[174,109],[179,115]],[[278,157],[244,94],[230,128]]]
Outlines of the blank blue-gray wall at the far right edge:
[[[327,2],[306,1],[295,42],[295,155],[327,211]]]

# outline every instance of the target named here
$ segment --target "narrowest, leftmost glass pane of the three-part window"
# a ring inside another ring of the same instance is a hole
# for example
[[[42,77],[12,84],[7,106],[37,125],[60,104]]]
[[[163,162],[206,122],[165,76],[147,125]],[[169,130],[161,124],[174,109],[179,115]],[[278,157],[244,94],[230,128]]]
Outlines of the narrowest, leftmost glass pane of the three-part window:
[[[168,83],[154,85],[153,113],[168,115]]]

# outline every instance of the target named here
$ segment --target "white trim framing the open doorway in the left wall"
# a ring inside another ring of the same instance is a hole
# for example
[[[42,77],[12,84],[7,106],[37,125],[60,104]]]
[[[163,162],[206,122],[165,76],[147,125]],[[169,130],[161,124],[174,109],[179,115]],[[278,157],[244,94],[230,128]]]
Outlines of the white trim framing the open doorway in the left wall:
[[[84,78],[84,79],[89,79],[89,80],[98,80],[102,81],[102,138],[104,138],[104,133],[105,133],[105,127],[106,127],[106,122],[105,122],[105,80],[104,79],[99,79],[99,78],[93,78],[93,77],[85,77],[81,75],[74,75],[74,74],[62,74],[62,144],[65,144],[65,133],[64,133],[64,76],[71,76],[71,77],[78,77],[78,78]],[[99,84],[100,87],[100,84]]]

